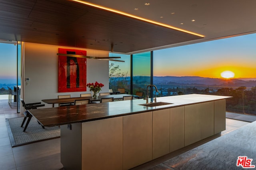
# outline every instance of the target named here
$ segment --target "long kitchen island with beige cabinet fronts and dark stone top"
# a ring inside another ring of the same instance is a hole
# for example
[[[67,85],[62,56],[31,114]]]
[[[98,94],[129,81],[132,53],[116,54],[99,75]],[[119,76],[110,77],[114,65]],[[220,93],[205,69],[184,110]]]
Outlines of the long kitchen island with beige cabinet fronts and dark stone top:
[[[220,133],[226,98],[189,94],[30,110],[44,126],[61,125],[65,169],[130,169]]]

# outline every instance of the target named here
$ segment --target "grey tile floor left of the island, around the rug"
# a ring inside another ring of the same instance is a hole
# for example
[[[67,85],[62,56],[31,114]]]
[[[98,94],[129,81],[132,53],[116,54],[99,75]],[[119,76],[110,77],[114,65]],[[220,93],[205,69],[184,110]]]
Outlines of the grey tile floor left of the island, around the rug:
[[[7,100],[0,100],[0,170],[64,170],[60,163],[60,138],[11,146],[5,119],[20,116],[23,114],[11,109]]]

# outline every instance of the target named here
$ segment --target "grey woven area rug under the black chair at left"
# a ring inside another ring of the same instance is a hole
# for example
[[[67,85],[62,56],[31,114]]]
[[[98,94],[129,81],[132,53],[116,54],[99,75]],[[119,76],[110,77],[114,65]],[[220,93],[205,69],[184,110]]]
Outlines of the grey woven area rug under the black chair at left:
[[[60,127],[45,127],[43,129],[34,117],[30,120],[26,131],[23,132],[25,125],[20,127],[23,119],[24,117],[6,119],[12,147],[60,137]]]

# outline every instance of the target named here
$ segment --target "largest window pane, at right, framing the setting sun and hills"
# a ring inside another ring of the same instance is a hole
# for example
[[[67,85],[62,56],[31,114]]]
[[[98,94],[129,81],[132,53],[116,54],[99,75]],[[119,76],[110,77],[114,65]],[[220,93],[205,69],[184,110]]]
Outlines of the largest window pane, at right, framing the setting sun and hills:
[[[227,111],[256,114],[256,34],[154,51],[161,96],[233,96]]]

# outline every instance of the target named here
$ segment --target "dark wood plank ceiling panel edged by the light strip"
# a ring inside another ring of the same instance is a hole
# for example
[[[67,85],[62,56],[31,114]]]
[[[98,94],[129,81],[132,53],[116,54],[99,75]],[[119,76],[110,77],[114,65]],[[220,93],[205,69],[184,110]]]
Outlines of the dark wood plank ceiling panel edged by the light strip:
[[[0,0],[2,40],[132,53],[200,38],[69,0]]]

